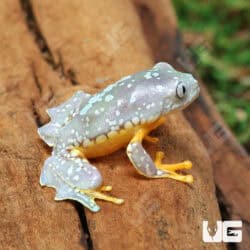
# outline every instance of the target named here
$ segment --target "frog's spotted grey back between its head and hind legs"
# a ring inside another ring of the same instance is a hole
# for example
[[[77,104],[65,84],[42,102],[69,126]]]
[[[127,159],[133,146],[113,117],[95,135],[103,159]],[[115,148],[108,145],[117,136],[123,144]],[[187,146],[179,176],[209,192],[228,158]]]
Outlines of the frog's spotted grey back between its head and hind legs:
[[[147,72],[127,76],[89,100],[80,112],[89,140],[129,130],[159,117],[162,102],[151,101],[154,90],[147,84]]]

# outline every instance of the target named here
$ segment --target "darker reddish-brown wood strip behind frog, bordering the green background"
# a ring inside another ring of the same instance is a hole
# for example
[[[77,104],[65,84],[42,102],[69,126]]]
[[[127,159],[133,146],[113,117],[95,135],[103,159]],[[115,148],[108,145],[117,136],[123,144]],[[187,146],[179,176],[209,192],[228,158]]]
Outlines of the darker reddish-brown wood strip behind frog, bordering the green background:
[[[172,61],[180,69],[193,72],[199,79],[190,54],[182,43],[177,22],[172,20],[174,11],[170,1],[134,1],[155,60]],[[169,23],[172,29],[169,29]],[[250,249],[250,158],[224,123],[200,79],[199,82],[202,86],[201,95],[184,114],[212,160],[222,218],[242,220],[243,242],[237,247]]]

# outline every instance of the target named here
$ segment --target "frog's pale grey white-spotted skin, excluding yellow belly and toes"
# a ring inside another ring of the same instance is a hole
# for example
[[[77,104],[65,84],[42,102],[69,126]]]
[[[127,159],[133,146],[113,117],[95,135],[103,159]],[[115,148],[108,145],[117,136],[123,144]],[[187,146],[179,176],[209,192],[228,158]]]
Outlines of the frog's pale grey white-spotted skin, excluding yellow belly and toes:
[[[183,91],[185,87],[185,93]],[[51,122],[39,128],[41,138],[53,147],[46,160],[40,183],[56,188],[56,200],[73,199],[92,211],[99,206],[79,189],[95,189],[102,184],[99,171],[80,158],[68,153],[69,148],[84,145],[110,131],[119,131],[127,122],[143,124],[158,119],[190,104],[199,94],[197,81],[191,74],[176,71],[167,63],[158,63],[152,69],[126,76],[91,96],[78,91],[60,106],[48,110]],[[145,175],[162,174],[155,171],[151,158],[141,145],[134,147],[130,160]],[[137,162],[146,157],[145,167]]]

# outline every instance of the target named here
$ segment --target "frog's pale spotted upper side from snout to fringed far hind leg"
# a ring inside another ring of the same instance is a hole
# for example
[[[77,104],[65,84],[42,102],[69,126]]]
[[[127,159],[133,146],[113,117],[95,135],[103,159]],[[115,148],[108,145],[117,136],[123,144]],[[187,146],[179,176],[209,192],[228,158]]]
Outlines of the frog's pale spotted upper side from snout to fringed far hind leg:
[[[183,98],[177,96],[179,83],[185,85]],[[181,110],[199,94],[191,74],[176,71],[167,63],[123,77],[101,92],[90,96],[78,91],[58,107],[48,110],[51,122],[39,129],[40,136],[55,152],[74,146],[88,147],[140,124]],[[59,111],[59,112],[58,112]]]

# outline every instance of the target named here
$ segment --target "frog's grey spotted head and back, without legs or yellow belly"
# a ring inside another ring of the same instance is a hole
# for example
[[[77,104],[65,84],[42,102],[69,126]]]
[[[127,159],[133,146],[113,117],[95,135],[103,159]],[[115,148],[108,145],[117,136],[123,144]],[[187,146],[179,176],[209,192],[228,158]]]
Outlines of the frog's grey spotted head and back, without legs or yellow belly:
[[[186,84],[184,99],[176,96],[180,81]],[[80,111],[79,133],[83,132],[83,138],[93,140],[110,131],[119,131],[127,122],[150,122],[152,117],[157,119],[183,109],[198,93],[199,86],[192,75],[178,72],[167,63],[158,63],[152,69],[125,77],[92,96]]]

